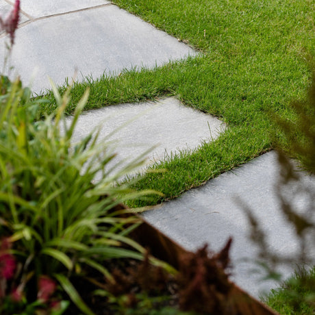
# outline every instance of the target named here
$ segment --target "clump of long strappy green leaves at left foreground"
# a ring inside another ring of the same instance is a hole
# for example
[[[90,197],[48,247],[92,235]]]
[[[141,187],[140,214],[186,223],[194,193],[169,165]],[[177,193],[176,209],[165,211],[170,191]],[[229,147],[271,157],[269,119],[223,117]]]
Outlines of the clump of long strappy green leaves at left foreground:
[[[71,279],[85,277],[88,268],[114,281],[105,261],[142,259],[145,250],[127,236],[140,219],[123,217],[131,210],[115,207],[147,192],[131,192],[127,185],[115,182],[143,161],[131,162],[113,174],[112,168],[105,168],[115,155],[103,142],[97,143],[99,131],[78,143],[71,142],[88,90],[67,125],[64,109],[70,88],[61,97],[53,85],[58,110],[37,121],[40,104],[29,99],[29,90],[22,88],[21,82],[5,82],[5,88],[0,84],[0,90],[5,91],[0,95],[0,236],[12,245],[5,255],[14,255],[18,266],[14,277],[1,281],[10,286],[10,294],[21,288],[30,304],[37,297],[27,288],[48,277],[59,283],[58,288],[61,286],[82,312],[93,314]],[[101,179],[93,184],[99,172]],[[151,262],[166,266],[153,258]],[[3,303],[0,310],[5,314]]]

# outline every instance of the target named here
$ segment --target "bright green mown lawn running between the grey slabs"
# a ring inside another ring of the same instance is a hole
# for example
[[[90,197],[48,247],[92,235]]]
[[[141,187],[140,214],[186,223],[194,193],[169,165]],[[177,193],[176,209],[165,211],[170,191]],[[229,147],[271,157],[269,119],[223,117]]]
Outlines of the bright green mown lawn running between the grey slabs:
[[[86,109],[175,95],[214,114],[229,128],[199,151],[155,165],[136,189],[164,193],[131,206],[173,199],[208,179],[273,148],[270,114],[294,120],[288,104],[303,99],[310,84],[307,56],[315,55],[313,0],[114,0],[203,55],[119,77],[75,84],[72,103],[90,87]],[[47,95],[51,98],[51,95]],[[68,113],[73,111],[70,105]],[[55,105],[47,104],[45,111]],[[288,145],[278,139],[288,149]]]

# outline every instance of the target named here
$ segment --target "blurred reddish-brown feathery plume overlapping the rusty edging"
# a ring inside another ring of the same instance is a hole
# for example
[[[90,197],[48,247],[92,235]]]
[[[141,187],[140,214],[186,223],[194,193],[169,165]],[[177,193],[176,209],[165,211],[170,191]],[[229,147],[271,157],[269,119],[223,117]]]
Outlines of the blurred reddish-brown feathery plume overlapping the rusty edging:
[[[177,276],[179,307],[183,311],[201,314],[234,314],[227,305],[231,289],[228,273],[231,238],[216,255],[210,255],[207,245],[197,253],[182,255]]]

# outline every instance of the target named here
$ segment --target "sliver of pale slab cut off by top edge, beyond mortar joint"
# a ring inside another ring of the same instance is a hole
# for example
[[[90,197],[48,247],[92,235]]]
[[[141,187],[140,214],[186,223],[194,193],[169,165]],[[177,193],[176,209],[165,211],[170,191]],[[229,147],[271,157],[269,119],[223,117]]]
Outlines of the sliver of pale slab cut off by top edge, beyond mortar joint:
[[[60,14],[92,8],[97,5],[110,3],[106,0],[53,0],[53,1],[38,1],[38,0],[22,0],[21,9],[32,16],[39,18],[42,16],[49,16],[53,14]]]

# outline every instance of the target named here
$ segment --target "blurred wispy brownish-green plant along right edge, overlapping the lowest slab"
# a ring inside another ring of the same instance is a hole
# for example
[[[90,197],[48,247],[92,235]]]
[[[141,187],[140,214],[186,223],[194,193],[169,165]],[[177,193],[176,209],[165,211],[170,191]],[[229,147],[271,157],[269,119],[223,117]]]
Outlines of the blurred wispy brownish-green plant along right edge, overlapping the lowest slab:
[[[315,64],[312,65],[312,84],[305,101],[294,101],[291,104],[296,114],[294,121],[274,118],[277,128],[286,142],[290,146],[290,155],[296,157],[301,163],[300,167],[315,175]],[[278,139],[279,139],[279,135]],[[283,140],[283,138],[281,140]],[[279,144],[278,144],[278,147]],[[270,306],[275,307],[279,312],[290,309],[294,314],[300,313],[298,305],[310,306],[312,314],[315,312],[315,279],[314,271],[307,273],[307,266],[314,270],[315,264],[315,189],[314,185],[309,185],[302,180],[301,173],[297,171],[297,165],[288,156],[278,149],[278,160],[280,166],[280,177],[277,184],[277,197],[279,199],[280,210],[294,230],[299,243],[299,253],[294,255],[280,255],[277,251],[270,249],[267,242],[267,235],[262,230],[257,219],[250,209],[244,207],[251,225],[251,240],[257,244],[259,249],[258,260],[266,270],[267,279],[281,279],[281,275],[276,272],[277,266],[292,266],[298,264],[295,277],[282,284],[282,288],[272,291],[272,299],[267,297],[265,301],[277,300],[280,296],[286,299],[279,299],[281,303]],[[297,197],[303,197],[303,207],[297,203]],[[288,240],[290,242],[292,240]],[[306,269],[305,269],[306,268]],[[294,283],[294,285],[292,285]],[[305,290],[303,290],[305,288]],[[304,305],[303,304],[303,305]],[[288,307],[290,305],[290,307]],[[286,314],[293,314],[288,312]]]

